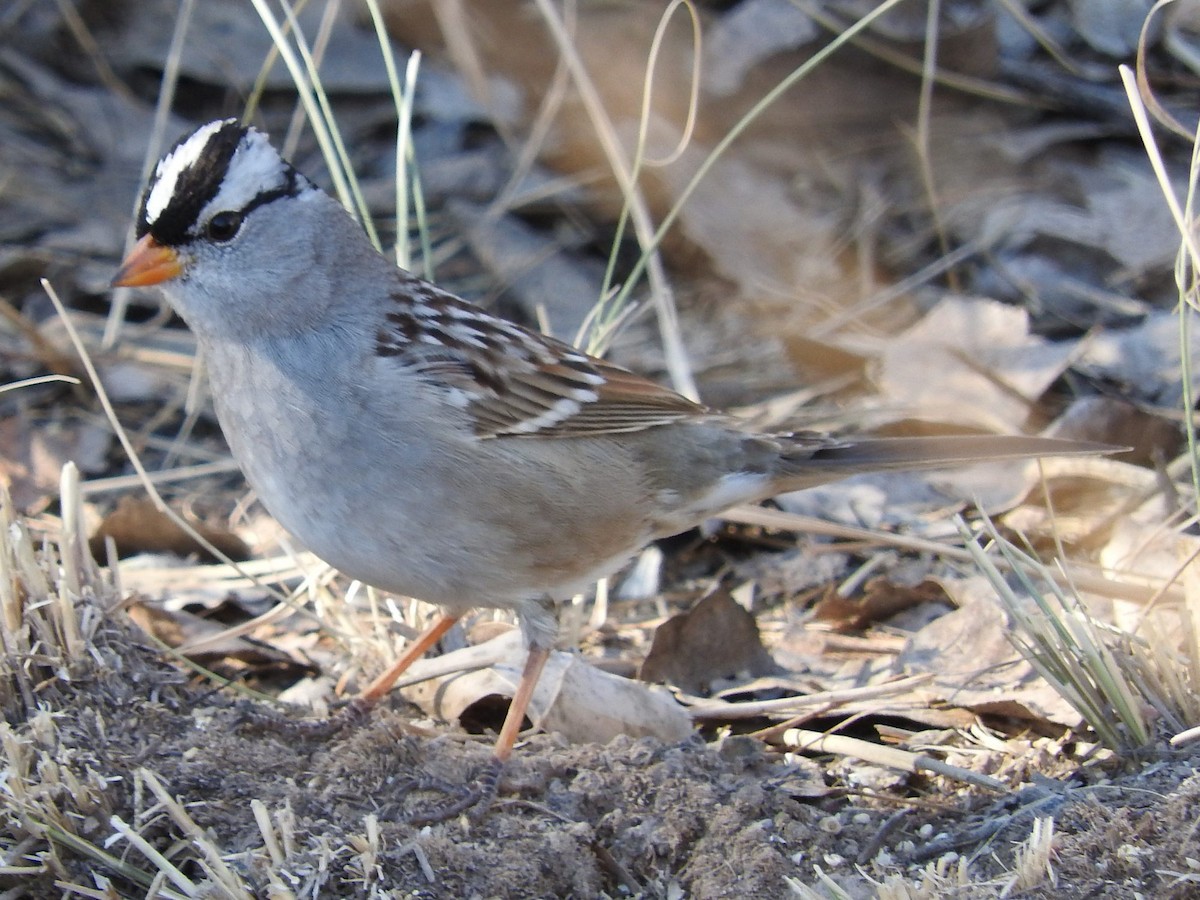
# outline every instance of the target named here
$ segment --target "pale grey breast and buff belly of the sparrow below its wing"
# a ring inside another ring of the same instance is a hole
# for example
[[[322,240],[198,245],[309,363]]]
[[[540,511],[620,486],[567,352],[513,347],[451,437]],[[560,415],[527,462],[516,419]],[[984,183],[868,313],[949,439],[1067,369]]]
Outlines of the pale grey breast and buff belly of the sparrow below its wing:
[[[314,402],[294,383],[264,380],[258,372],[259,390],[217,402],[235,458],[288,532],[367,584],[454,610],[514,608],[586,589],[654,536],[629,515],[636,486],[622,479],[634,467],[610,460],[611,448],[576,443],[596,457],[580,466],[560,452],[538,458],[522,438],[431,439],[355,413],[353,398]],[[264,391],[284,420],[266,424]]]

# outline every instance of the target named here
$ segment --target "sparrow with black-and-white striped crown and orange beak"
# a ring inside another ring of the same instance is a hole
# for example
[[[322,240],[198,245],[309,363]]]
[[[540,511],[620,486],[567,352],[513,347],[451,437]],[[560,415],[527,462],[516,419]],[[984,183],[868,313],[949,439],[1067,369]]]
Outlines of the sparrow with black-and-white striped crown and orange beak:
[[[1028,437],[758,434],[397,269],[260,132],[202,126],[158,163],[114,286],[162,284],[196,332],[217,416],[270,512],[318,556],[446,616],[516,611],[529,662],[553,602],[656,538],[845,475],[1094,451]]]

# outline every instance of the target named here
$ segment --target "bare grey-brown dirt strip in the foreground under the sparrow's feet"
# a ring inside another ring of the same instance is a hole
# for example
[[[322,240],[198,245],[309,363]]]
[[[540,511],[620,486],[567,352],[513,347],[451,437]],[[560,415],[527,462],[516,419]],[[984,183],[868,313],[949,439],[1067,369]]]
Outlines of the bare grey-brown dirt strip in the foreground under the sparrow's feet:
[[[846,769],[787,761],[748,737],[571,746],[534,734],[486,814],[421,827],[404,817],[431,796],[408,779],[469,782],[486,739],[422,721],[400,701],[334,734],[288,728],[274,707],[190,683],[113,619],[90,658],[70,682],[43,672],[36,710],[14,698],[5,710],[24,722],[5,739],[24,745],[26,769],[11,769],[8,784],[85,840],[102,841],[119,816],[190,875],[187,895],[234,895],[216,877],[205,887],[203,844],[266,898],[774,898],[790,895],[788,880],[811,883],[815,868],[848,896],[876,895],[872,878],[900,875],[929,883],[913,896],[994,896],[1039,816],[1055,821],[1055,880],[1008,896],[1196,895],[1200,778],[1189,754],[1090,767],[1028,758],[1026,784],[1002,797],[916,778],[868,798],[844,790]],[[203,841],[180,841],[150,776]],[[26,846],[44,834],[28,820],[8,829],[30,835]],[[138,862],[132,848],[112,852]],[[0,871],[10,896],[146,889],[70,845],[36,856],[41,875]]]

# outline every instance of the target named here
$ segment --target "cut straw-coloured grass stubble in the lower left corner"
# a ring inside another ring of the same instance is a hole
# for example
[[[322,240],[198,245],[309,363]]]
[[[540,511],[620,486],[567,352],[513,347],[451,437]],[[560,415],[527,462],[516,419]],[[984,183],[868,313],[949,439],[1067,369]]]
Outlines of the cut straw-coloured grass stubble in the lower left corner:
[[[43,886],[50,876],[65,896],[118,896],[116,886],[124,883],[137,886],[145,896],[248,900],[253,893],[226,862],[228,853],[152,772],[138,769],[130,790],[134,796],[154,796],[157,806],[126,821],[127,814],[122,817],[118,811],[122,788],[114,792],[113,779],[78,766],[70,742],[60,737],[55,689],[79,690],[73,685],[95,684],[119,665],[114,665],[113,649],[96,638],[121,595],[113,570],[98,566],[88,551],[73,463],[64,467],[60,490],[61,530],[35,535],[0,486],[0,704],[5,719],[0,721],[0,853],[5,860],[0,876],[41,877]],[[157,834],[158,810],[182,835],[167,848]],[[148,836],[151,830],[156,836]],[[292,842],[287,833],[283,839]],[[126,848],[113,850],[119,845]],[[265,833],[264,846],[271,846]],[[91,870],[90,884],[76,883],[68,875],[79,870],[79,859]],[[270,854],[269,863],[282,866],[282,854]]]

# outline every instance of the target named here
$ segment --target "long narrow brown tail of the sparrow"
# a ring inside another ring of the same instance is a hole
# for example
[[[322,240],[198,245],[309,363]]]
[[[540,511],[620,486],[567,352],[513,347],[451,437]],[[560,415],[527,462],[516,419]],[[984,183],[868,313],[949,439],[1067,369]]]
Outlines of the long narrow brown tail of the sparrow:
[[[794,434],[780,438],[782,491],[799,491],[862,472],[940,469],[976,462],[1032,460],[1039,456],[1098,456],[1124,448],[1024,434],[970,434],[929,438],[846,438],[829,440]],[[778,485],[776,485],[778,487]]]

